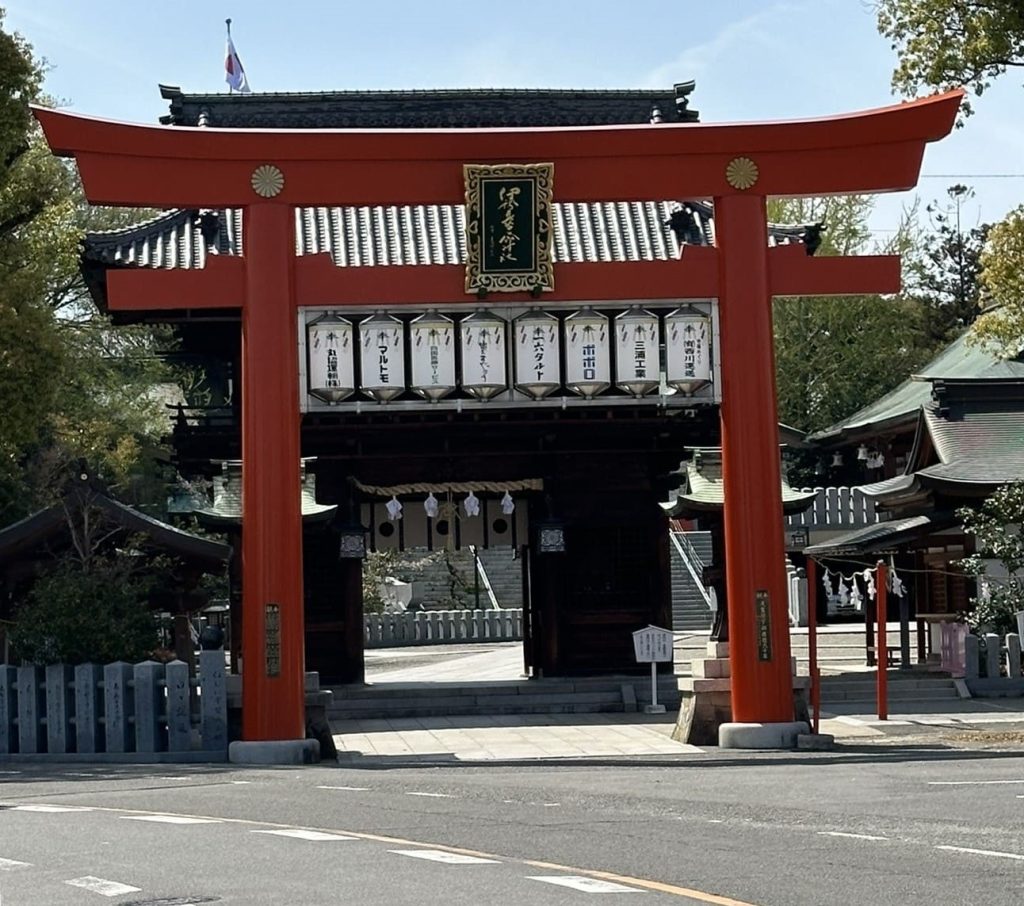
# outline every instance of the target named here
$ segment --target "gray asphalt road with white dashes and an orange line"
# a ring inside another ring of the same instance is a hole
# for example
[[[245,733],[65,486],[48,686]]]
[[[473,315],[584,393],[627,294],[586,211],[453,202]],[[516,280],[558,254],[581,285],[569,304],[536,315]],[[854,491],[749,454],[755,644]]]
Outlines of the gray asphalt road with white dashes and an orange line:
[[[1016,752],[0,769],[3,906],[1024,900]]]

